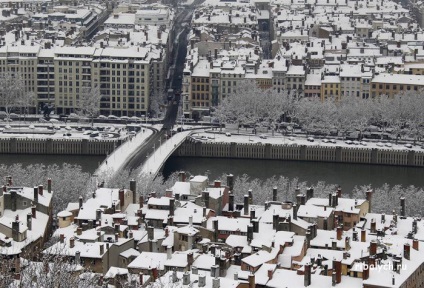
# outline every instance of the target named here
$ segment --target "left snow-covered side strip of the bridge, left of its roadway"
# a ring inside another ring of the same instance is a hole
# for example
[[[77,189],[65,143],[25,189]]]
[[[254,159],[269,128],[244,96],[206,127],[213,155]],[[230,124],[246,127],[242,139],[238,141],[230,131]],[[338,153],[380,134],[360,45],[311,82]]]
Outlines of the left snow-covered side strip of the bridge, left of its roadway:
[[[103,173],[115,173],[119,171],[125,164],[125,161],[131,157],[137,149],[153,135],[153,131],[147,128],[142,128],[135,136],[128,135],[127,141],[115,149],[95,171],[95,175]]]

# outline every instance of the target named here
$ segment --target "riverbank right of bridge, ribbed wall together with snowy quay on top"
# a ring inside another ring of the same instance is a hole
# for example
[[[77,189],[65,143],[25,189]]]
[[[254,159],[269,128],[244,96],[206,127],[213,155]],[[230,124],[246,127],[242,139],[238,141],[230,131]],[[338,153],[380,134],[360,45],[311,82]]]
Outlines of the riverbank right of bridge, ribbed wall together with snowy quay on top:
[[[394,144],[389,147],[379,142],[354,146],[343,141],[325,143],[306,138],[227,135],[198,133],[183,142],[173,156],[424,167],[424,152],[420,147],[406,148]]]

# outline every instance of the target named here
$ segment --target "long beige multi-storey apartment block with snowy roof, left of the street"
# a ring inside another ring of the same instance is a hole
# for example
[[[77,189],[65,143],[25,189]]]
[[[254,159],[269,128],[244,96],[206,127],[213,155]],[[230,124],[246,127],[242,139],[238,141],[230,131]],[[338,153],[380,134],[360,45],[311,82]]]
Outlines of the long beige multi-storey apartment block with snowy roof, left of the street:
[[[135,46],[3,46],[0,71],[22,73],[25,90],[37,94],[37,108],[50,104],[58,114],[74,112],[82,89],[99,85],[101,114],[141,116],[147,113],[153,81],[163,82],[157,76],[163,75],[157,64],[162,63],[158,58],[162,55],[154,52]]]

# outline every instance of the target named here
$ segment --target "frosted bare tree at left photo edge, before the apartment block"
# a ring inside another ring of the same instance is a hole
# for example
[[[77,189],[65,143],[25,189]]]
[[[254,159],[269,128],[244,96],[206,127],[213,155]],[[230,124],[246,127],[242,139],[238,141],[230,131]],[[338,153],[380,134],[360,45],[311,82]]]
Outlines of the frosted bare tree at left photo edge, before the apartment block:
[[[4,107],[7,121],[10,113],[19,106],[19,101],[24,93],[24,82],[21,74],[3,72],[0,73],[0,105]]]

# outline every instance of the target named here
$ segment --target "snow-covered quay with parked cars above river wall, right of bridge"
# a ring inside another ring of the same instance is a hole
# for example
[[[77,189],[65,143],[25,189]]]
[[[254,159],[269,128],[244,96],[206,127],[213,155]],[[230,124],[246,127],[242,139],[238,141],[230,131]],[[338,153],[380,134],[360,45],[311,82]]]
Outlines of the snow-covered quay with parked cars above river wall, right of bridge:
[[[403,151],[409,151],[414,150],[417,152],[424,152],[424,149],[422,149],[420,146],[412,146],[412,148],[407,148],[404,144],[394,144],[393,142],[359,142],[359,141],[352,141],[351,144],[347,144],[345,140],[336,140],[336,143],[325,143],[324,139],[314,139],[313,142],[308,141],[305,136],[282,136],[282,135],[275,135],[272,136],[269,134],[259,134],[259,135],[235,135],[230,134],[231,136],[227,136],[225,133],[219,133],[215,130],[208,130],[205,132],[198,132],[196,131],[191,135],[196,140],[203,141],[203,142],[224,142],[224,143],[251,143],[251,144],[258,144],[258,143],[269,143],[273,145],[307,145],[307,146],[329,146],[329,147],[343,147],[343,148],[363,148],[363,149],[383,149],[383,150],[403,150]],[[260,138],[260,135],[263,135],[266,137],[266,139]],[[356,143],[353,144],[353,143]],[[389,145],[389,146],[386,146]]]

